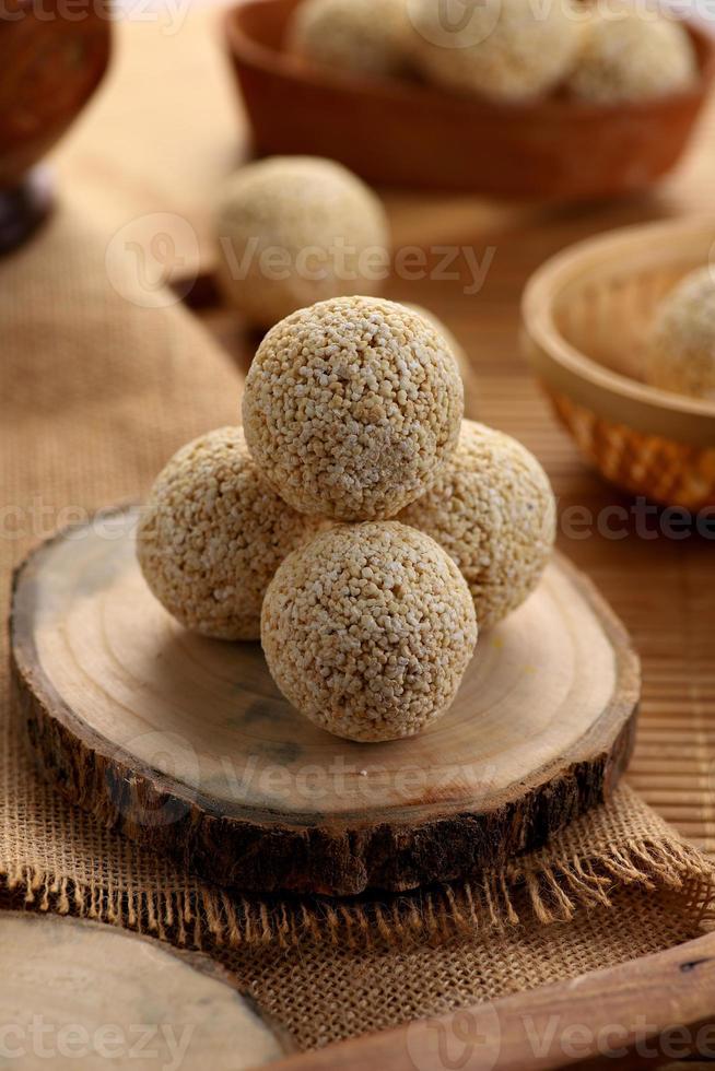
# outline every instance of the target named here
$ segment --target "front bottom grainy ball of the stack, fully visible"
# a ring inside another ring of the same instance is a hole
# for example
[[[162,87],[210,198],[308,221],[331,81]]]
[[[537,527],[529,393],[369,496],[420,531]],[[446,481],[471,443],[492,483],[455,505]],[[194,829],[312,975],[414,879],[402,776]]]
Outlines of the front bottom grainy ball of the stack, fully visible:
[[[434,540],[338,526],[285,558],[261,642],[285,697],[349,740],[411,737],[450,706],[477,643],[469,589]]]

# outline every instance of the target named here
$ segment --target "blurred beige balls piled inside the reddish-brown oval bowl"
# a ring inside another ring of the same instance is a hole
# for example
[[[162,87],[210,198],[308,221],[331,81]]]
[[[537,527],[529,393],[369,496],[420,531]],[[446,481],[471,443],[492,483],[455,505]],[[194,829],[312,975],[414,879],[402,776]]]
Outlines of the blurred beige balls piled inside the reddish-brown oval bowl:
[[[423,80],[485,101],[617,104],[689,89],[692,40],[635,0],[303,0],[288,34],[306,63]]]

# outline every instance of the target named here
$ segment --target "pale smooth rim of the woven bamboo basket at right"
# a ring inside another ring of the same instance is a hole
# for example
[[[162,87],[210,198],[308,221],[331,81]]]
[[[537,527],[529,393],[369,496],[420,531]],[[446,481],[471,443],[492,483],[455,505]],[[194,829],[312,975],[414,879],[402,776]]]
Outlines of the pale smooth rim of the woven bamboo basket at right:
[[[672,262],[677,259],[677,239],[710,239],[715,247],[715,215],[607,231],[551,257],[524,290],[524,350],[551,388],[598,415],[645,434],[715,448],[715,401],[660,390],[603,367],[564,338],[554,316],[554,304],[564,287],[589,268],[611,261],[623,263],[634,252],[647,262],[654,262],[656,257]]]

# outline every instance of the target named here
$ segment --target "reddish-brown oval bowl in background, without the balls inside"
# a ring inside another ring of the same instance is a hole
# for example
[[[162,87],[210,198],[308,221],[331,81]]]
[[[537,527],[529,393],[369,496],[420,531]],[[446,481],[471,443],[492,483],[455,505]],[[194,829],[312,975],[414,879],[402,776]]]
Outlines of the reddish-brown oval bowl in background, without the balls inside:
[[[298,2],[245,0],[226,15],[256,150],[329,156],[378,185],[561,199],[643,189],[677,163],[715,71],[715,42],[689,28],[701,78],[688,92],[493,104],[307,66],[282,47]]]

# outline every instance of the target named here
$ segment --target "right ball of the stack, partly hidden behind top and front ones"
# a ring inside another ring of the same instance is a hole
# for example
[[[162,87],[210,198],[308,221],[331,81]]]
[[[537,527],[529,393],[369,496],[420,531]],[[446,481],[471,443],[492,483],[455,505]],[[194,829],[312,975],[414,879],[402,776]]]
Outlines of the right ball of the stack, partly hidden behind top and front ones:
[[[426,532],[469,585],[480,629],[493,627],[536,588],[555,539],[549,478],[520,443],[464,421],[446,471],[399,520]]]

